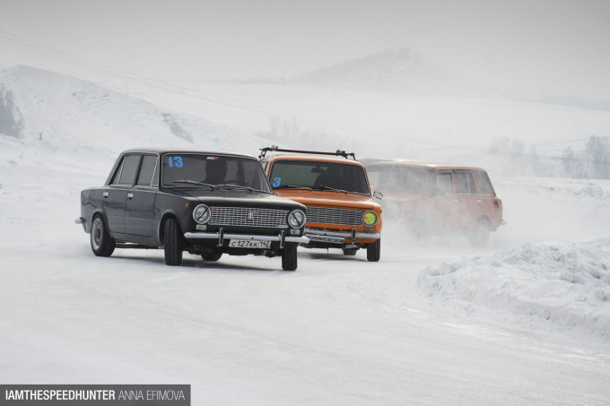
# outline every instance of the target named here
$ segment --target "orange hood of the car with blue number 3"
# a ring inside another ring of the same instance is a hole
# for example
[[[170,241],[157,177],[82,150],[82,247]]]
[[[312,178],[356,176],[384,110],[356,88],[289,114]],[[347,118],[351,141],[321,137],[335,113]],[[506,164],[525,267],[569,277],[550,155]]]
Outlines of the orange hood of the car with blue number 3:
[[[275,190],[274,194],[305,204],[306,206],[349,207],[362,210],[371,210],[379,207],[379,203],[373,201],[370,196],[362,194],[309,190]]]

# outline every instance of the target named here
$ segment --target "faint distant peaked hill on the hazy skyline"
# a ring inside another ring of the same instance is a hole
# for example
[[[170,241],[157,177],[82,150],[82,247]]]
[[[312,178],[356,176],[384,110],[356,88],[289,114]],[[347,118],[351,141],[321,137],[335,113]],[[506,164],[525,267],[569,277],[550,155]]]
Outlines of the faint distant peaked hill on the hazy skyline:
[[[387,50],[318,69],[301,75],[295,82],[425,96],[488,95],[475,84],[408,48]]]

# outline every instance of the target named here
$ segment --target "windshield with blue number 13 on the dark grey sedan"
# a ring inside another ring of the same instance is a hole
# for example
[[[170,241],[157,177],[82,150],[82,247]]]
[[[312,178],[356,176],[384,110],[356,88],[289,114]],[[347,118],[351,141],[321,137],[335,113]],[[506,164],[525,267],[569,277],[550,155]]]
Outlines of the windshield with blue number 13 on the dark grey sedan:
[[[161,179],[163,186],[251,188],[271,193],[260,163],[234,156],[197,153],[164,155]]]

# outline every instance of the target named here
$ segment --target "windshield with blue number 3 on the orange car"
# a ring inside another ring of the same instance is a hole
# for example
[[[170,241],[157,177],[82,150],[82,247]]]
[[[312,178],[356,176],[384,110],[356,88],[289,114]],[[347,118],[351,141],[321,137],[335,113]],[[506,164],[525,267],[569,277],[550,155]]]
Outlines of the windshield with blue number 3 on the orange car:
[[[274,189],[338,190],[370,194],[360,165],[324,161],[278,160],[269,177]]]

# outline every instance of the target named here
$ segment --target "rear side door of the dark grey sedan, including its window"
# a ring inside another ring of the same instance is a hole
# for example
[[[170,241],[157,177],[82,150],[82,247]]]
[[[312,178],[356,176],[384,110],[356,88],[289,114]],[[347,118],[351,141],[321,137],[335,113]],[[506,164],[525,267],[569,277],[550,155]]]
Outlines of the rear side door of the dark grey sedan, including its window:
[[[115,238],[126,234],[125,205],[129,188],[134,185],[135,174],[140,164],[139,154],[123,157],[108,188],[102,191],[101,205],[108,216],[110,233]]]

